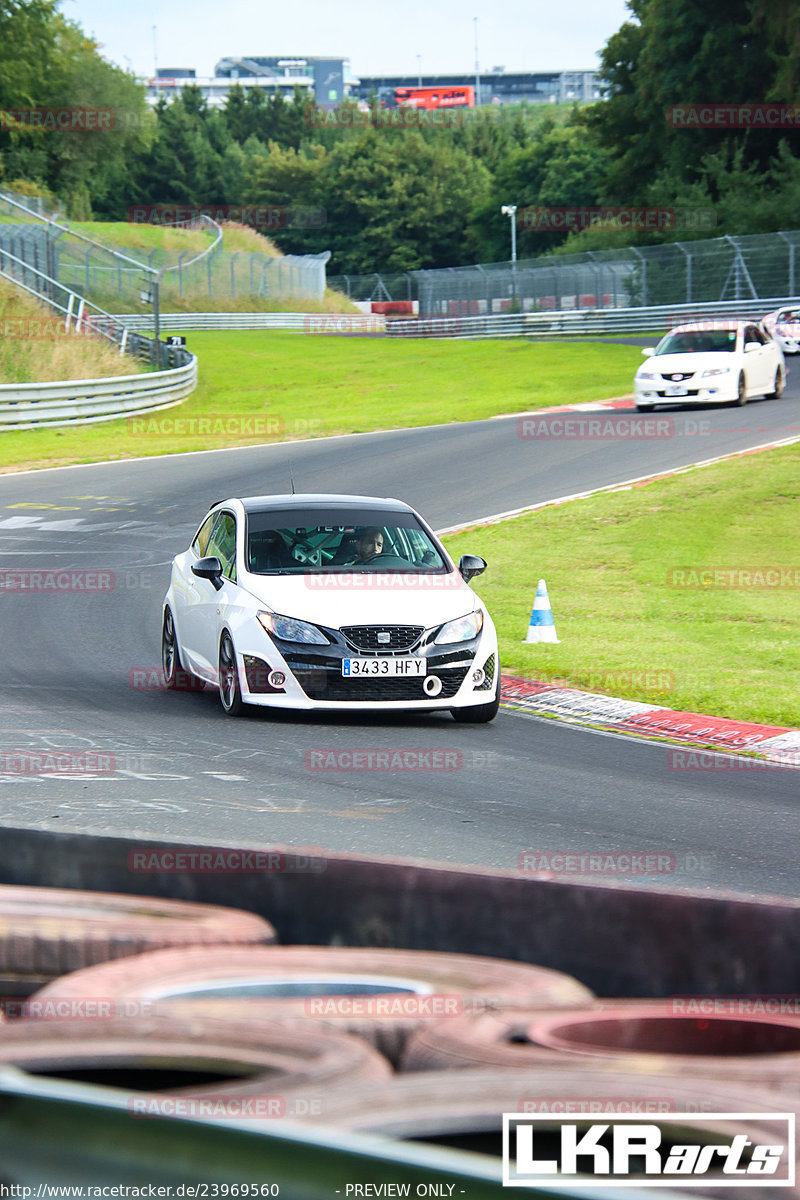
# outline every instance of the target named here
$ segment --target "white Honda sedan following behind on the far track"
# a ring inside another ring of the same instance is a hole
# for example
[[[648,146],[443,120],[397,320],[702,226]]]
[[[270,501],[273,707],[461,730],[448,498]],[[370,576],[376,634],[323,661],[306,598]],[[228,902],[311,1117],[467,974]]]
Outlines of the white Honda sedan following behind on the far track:
[[[745,404],[753,396],[783,394],[781,347],[753,322],[708,320],[678,325],[636,372],[636,407],[656,404]]]

